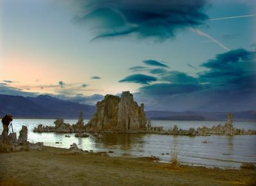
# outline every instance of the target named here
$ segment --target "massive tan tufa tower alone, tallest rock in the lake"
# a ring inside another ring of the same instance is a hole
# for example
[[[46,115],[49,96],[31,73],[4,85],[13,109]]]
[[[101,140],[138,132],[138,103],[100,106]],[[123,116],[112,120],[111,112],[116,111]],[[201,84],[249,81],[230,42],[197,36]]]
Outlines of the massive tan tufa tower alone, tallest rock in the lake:
[[[144,104],[134,102],[129,91],[121,97],[106,95],[96,106],[97,112],[86,125],[88,132],[147,132]]]

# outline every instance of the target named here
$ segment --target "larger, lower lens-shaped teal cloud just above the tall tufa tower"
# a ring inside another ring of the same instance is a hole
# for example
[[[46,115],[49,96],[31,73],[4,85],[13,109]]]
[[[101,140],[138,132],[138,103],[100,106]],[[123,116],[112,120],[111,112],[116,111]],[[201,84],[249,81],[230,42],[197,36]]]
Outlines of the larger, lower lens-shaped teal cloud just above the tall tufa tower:
[[[139,84],[149,84],[150,82],[153,82],[153,81],[157,81],[156,77],[143,75],[143,74],[134,74],[134,75],[129,75],[125,77],[119,82],[135,82]]]

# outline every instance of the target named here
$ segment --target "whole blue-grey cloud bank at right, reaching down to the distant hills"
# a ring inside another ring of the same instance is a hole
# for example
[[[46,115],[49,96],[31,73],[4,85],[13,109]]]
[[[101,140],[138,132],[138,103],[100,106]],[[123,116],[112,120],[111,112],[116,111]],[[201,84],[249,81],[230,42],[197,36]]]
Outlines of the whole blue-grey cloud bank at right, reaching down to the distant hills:
[[[146,109],[169,111],[246,111],[256,109],[256,52],[244,49],[218,54],[200,65],[204,71],[157,74],[157,81],[134,96]]]

